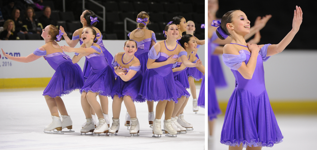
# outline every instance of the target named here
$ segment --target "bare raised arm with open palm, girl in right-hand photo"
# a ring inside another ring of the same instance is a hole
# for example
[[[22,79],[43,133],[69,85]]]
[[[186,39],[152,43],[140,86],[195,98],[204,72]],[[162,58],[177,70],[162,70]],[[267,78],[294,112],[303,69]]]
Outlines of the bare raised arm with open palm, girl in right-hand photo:
[[[268,46],[267,56],[272,56],[277,53],[281,53],[285,49],[285,47],[288,46],[288,44],[293,40],[295,34],[298,32],[301,26],[302,20],[303,20],[303,11],[301,10],[300,7],[296,6],[296,10],[294,10],[292,30],[283,38],[283,40],[280,43]]]

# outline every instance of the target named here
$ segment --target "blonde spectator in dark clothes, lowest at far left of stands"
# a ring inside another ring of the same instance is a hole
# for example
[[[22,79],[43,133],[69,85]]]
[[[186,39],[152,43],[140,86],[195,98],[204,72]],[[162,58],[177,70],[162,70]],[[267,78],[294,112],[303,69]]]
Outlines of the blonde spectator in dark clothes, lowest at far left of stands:
[[[8,19],[4,22],[4,30],[0,34],[1,40],[18,40],[15,31],[14,21]]]

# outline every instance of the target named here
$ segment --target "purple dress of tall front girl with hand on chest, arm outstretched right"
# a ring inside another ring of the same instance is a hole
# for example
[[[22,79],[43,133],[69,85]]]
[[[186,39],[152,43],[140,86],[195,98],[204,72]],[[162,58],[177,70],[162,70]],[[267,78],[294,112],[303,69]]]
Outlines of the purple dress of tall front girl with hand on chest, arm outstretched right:
[[[159,41],[160,52],[156,54],[155,48],[152,47],[148,53],[149,59],[155,59],[155,62],[166,61],[171,55],[173,58],[178,58],[182,55],[187,55],[185,51],[181,51],[182,47],[176,44],[173,50],[167,49],[164,41]],[[153,69],[146,69],[142,79],[142,84],[139,94],[147,101],[174,101],[178,102],[175,80],[172,72],[174,64],[168,64]]]

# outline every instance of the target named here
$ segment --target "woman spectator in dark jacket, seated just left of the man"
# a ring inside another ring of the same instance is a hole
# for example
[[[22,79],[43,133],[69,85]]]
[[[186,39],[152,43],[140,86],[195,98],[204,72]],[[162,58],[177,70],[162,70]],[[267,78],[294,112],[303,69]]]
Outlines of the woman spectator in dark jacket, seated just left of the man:
[[[23,31],[28,31],[28,33],[37,33],[37,34],[41,34],[42,33],[42,29],[43,26],[42,24],[35,19],[35,12],[34,9],[32,7],[28,7],[26,9],[26,18],[25,20],[23,20]]]

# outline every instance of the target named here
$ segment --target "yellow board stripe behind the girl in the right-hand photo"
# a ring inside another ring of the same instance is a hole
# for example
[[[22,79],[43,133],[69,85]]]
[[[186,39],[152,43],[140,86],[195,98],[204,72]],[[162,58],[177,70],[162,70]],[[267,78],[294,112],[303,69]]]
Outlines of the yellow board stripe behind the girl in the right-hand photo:
[[[270,101],[274,114],[317,114],[317,100]],[[219,102],[222,115],[228,102]]]

